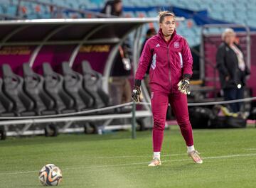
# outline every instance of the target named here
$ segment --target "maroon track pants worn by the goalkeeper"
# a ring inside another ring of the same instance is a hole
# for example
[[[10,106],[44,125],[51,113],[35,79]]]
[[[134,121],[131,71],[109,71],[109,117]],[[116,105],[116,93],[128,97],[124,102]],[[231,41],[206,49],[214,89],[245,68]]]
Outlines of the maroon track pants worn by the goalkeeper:
[[[171,104],[171,109],[174,111],[178,126],[180,126],[181,129],[181,134],[186,141],[186,145],[193,145],[193,132],[188,116],[187,96],[185,94],[181,94],[181,92],[166,94],[163,92],[154,91],[151,93],[151,108],[154,118],[154,152],[161,151],[168,104]]]

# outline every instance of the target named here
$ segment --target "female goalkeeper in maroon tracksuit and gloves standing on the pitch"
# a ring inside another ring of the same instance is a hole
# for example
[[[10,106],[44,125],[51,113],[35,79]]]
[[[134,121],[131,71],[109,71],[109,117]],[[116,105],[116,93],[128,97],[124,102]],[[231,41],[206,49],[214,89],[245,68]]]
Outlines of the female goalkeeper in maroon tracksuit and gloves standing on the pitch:
[[[181,134],[186,141],[188,156],[201,164],[203,160],[193,146],[193,132],[188,117],[186,94],[190,94],[189,79],[193,59],[186,39],[176,34],[175,15],[169,11],[159,13],[159,32],[144,45],[135,75],[132,99],[139,101],[141,80],[148,68],[151,87],[151,109],[154,118],[153,160],[149,166],[161,165],[160,152],[168,104],[171,104]]]

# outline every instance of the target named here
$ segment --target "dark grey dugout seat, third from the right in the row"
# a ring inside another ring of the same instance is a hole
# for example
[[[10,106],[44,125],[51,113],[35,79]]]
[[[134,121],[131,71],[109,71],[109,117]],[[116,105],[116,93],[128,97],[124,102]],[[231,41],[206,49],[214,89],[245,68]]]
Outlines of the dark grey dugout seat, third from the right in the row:
[[[63,76],[53,72],[50,64],[43,63],[43,77],[45,78],[45,89],[46,92],[55,101],[55,110],[61,113],[74,112],[75,102],[71,96],[69,96],[63,89]]]

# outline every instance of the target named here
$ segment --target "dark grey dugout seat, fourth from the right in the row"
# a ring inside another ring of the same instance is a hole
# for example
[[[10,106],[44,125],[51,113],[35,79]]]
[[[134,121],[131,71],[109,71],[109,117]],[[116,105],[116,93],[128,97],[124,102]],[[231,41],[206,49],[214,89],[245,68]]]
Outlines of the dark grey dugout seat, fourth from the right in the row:
[[[23,64],[23,79],[25,92],[36,102],[36,113],[38,115],[56,114],[54,101],[43,88],[43,77],[33,72],[28,63]]]

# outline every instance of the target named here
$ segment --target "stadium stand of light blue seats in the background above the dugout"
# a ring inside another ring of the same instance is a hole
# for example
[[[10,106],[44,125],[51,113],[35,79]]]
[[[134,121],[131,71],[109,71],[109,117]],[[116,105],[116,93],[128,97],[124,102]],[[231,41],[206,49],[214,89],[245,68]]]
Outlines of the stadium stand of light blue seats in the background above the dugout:
[[[36,3],[38,2],[38,3]],[[13,16],[21,16],[23,18],[83,18],[89,17],[90,14],[82,14],[78,11],[70,10],[90,10],[100,11],[105,1],[97,0],[40,0],[28,1],[21,0],[18,9],[18,0],[3,0],[0,2],[0,15],[8,15],[10,17],[1,16],[2,18],[12,18]],[[203,0],[161,0],[161,1],[136,1],[124,0],[124,16],[125,17],[155,17],[157,12],[165,7],[176,6],[192,11],[207,10],[208,16],[217,20],[227,21],[230,23],[245,23],[247,26],[256,27],[256,5],[255,1],[250,0],[252,6],[248,6],[248,1],[228,0],[225,3],[221,0],[203,1]],[[62,7],[61,11],[58,6]],[[136,7],[136,8],[135,8]],[[139,8],[144,9],[139,9]],[[154,8],[154,9],[153,9]],[[18,11],[17,11],[18,10]],[[60,11],[60,13],[58,13]],[[17,15],[17,12],[19,14]],[[157,28],[157,24],[154,25]],[[191,46],[199,44],[201,27],[197,26],[192,19],[178,23],[178,33],[184,35],[188,39]],[[212,29],[210,33],[221,33],[220,29]]]

